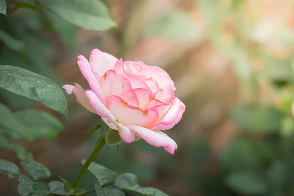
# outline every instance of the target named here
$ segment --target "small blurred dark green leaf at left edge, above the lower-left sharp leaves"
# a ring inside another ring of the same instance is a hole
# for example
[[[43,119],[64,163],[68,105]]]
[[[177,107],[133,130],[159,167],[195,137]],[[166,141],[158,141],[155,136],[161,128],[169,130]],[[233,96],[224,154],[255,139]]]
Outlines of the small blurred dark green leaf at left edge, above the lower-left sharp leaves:
[[[1,132],[1,128],[0,128]],[[9,143],[3,136],[0,135],[0,147],[7,150],[12,150],[16,153],[17,157],[21,160],[32,158],[32,154],[27,152],[24,147]]]

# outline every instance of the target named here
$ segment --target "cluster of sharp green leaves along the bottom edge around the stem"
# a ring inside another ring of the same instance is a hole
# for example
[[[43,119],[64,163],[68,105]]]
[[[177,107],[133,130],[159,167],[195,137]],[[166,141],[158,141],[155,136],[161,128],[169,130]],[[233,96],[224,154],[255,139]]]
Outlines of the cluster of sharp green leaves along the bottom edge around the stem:
[[[85,161],[83,160],[82,163]],[[92,162],[88,168],[95,178],[95,190],[86,191],[74,188],[70,182],[61,178],[62,181],[50,181],[48,184],[37,181],[49,177],[51,173],[42,164],[28,159],[21,162],[25,171],[29,174],[19,173],[19,168],[9,162],[0,159],[0,173],[9,178],[19,176],[18,192],[21,196],[85,196],[87,193],[96,192],[97,196],[125,196],[127,191],[134,191],[143,196],[165,196],[163,192],[155,188],[143,188],[138,185],[137,176],[123,173],[117,176],[116,172],[109,170],[97,163]]]

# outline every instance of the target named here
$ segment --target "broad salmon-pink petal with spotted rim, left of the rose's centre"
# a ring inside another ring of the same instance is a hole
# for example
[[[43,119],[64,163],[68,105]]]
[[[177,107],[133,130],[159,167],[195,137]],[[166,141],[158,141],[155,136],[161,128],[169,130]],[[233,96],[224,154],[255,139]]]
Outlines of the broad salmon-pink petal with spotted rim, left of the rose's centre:
[[[101,87],[105,97],[118,96],[126,102],[130,102],[139,106],[138,98],[132,89],[130,82],[115,73],[113,70],[107,71],[101,77]]]

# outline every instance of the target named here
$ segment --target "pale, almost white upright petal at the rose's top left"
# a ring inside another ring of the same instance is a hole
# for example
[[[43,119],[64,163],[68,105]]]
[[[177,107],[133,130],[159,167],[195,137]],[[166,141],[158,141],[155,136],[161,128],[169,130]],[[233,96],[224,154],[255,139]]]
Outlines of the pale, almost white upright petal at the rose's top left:
[[[102,52],[99,49],[93,49],[91,51],[89,61],[91,70],[94,73],[96,79],[99,81],[105,72],[112,70],[117,60],[118,59],[111,54]]]

